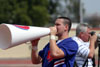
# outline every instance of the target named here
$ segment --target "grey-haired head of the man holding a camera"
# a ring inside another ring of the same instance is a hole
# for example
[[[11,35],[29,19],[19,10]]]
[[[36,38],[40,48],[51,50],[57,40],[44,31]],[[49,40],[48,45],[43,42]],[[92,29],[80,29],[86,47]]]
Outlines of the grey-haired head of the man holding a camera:
[[[76,36],[81,38],[84,42],[89,41],[90,29],[88,24],[79,24],[76,28]]]

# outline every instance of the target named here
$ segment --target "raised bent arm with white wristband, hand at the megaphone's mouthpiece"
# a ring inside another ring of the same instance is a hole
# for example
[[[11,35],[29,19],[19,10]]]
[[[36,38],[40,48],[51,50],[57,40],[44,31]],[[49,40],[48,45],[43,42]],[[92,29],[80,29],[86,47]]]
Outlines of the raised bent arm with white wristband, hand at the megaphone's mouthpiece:
[[[51,27],[51,34],[50,34],[50,52],[51,52],[51,57],[53,59],[58,59],[64,57],[64,52],[57,46],[56,40],[53,39],[56,35],[56,27]]]

